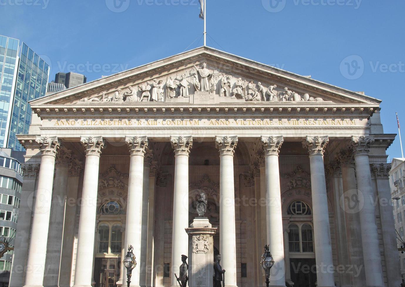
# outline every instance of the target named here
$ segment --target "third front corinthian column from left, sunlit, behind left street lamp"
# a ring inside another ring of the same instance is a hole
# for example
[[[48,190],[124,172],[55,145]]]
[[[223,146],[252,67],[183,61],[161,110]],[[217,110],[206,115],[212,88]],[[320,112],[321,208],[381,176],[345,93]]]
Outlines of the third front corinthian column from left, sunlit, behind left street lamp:
[[[130,151],[128,181],[128,203],[125,228],[125,246],[134,247],[134,255],[141,258],[142,246],[142,205],[143,205],[143,161],[148,139],[146,136],[126,137]],[[138,262],[132,271],[131,286],[140,286],[141,268],[145,262]],[[145,283],[144,283],[145,284]]]

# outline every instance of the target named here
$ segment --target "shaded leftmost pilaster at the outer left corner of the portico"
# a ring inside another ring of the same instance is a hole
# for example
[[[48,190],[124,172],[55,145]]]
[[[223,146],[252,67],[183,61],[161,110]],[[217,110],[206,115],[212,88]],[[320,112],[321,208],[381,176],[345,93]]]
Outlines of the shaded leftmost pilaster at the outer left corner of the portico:
[[[23,185],[21,190],[21,202],[18,215],[18,228],[15,237],[15,246],[19,248],[14,250],[9,286],[21,287],[24,285],[25,266],[28,257],[28,239],[30,235],[32,201],[36,191],[35,182],[39,164],[25,163],[22,165]]]

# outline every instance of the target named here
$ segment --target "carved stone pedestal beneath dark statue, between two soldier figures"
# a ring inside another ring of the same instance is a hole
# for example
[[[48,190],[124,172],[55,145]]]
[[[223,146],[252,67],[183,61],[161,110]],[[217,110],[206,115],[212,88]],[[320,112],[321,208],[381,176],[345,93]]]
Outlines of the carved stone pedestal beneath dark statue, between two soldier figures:
[[[195,218],[191,228],[185,231],[189,237],[188,286],[212,287],[214,275],[214,238],[217,228],[208,218]]]

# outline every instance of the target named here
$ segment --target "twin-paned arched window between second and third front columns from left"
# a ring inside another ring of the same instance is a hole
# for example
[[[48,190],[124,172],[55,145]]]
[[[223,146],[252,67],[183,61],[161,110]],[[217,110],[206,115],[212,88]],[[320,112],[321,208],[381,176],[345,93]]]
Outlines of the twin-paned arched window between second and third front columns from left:
[[[98,253],[121,253],[122,251],[122,227],[114,224],[101,224],[98,227]]]

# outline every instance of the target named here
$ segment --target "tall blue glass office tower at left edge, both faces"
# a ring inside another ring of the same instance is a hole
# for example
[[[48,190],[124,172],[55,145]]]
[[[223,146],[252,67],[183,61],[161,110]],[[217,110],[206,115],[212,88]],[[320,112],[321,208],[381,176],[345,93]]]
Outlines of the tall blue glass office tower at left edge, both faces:
[[[0,36],[0,67],[0,147],[23,151],[16,135],[28,133],[28,101],[45,96],[49,65],[25,43]]]

